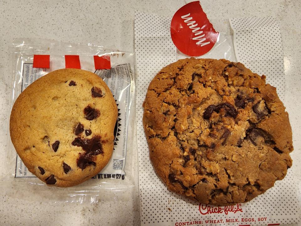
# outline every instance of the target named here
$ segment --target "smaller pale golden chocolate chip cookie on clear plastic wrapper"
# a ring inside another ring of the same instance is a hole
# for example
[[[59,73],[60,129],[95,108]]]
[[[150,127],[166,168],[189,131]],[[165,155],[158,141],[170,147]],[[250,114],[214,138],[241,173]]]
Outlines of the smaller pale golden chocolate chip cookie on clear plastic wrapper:
[[[10,136],[30,172],[69,187],[96,175],[113,152],[117,105],[103,80],[79,69],[53,71],[13,105]]]

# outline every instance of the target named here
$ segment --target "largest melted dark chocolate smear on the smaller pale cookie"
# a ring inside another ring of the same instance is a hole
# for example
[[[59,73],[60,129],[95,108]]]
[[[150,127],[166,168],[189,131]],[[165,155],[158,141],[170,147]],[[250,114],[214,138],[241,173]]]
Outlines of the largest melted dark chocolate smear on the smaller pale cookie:
[[[72,141],[73,146],[82,147],[85,153],[80,153],[77,159],[77,166],[80,169],[85,169],[88,165],[94,165],[93,157],[98,154],[103,154],[102,144],[100,137],[93,137],[92,139],[81,139],[76,137]]]

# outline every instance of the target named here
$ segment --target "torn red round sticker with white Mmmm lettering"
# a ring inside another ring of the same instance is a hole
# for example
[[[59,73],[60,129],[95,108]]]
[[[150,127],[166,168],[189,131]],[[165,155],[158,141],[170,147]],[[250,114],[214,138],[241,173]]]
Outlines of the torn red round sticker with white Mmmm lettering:
[[[175,13],[170,33],[178,50],[188,56],[204,55],[212,49],[219,36],[199,1],[188,3]]]

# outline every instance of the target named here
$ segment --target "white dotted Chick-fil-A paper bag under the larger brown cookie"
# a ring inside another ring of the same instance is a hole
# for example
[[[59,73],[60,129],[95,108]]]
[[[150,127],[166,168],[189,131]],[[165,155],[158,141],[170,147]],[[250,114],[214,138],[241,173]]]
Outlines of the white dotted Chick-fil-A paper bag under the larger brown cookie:
[[[138,67],[137,134],[141,225],[286,225],[299,222],[300,207],[293,171],[251,202],[233,207],[205,206],[167,190],[149,160],[142,126],[147,87],[158,71],[186,58],[172,43],[171,18],[136,12],[135,52]],[[273,18],[211,21],[220,32],[215,46],[202,58],[239,61],[253,72],[265,74],[283,99],[285,85],[279,26]],[[234,44],[233,44],[234,43]],[[296,164],[296,163],[294,163]],[[218,213],[216,213],[218,212]]]

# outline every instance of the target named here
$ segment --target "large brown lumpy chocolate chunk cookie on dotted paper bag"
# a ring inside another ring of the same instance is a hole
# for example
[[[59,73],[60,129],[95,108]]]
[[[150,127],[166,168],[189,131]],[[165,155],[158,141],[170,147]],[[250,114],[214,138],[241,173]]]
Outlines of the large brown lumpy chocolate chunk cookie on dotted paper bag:
[[[224,59],[183,59],[143,103],[150,160],[168,188],[213,205],[248,202],[292,165],[292,130],[265,76]]]

